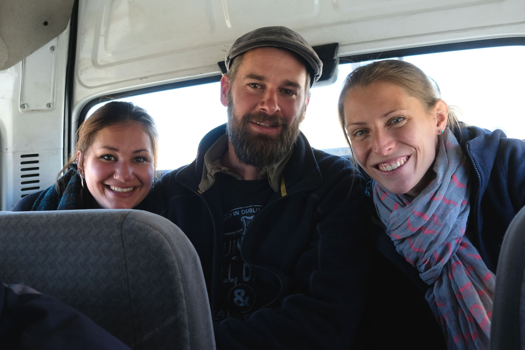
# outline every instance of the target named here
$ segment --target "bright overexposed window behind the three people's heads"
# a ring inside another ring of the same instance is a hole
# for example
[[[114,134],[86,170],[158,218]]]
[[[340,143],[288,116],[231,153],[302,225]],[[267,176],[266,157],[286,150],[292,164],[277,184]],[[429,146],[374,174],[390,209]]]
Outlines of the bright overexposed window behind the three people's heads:
[[[509,137],[525,139],[525,46],[501,46],[406,56],[433,78],[442,98],[459,108],[459,119],[489,130],[502,129]],[[334,154],[348,154],[337,117],[337,101],[344,78],[367,62],[341,60],[335,84],[313,88],[301,131],[310,144]],[[157,122],[160,170],[191,163],[197,145],[211,129],[227,121],[219,101],[219,83],[146,93],[119,99],[145,108]],[[106,102],[104,102],[106,103]],[[100,107],[90,109],[90,115]]]

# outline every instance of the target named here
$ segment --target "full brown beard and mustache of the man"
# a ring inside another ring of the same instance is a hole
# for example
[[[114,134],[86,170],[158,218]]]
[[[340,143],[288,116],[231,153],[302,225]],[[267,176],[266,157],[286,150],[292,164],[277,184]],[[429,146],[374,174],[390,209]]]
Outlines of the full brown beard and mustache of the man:
[[[301,108],[301,111],[304,111],[304,108]],[[249,124],[252,121],[280,125],[281,133],[277,136],[270,136],[250,131]],[[299,115],[289,124],[276,115],[268,115],[264,112],[247,113],[239,120],[235,115],[232,98],[228,96],[226,132],[238,160],[246,165],[262,169],[282,160],[291,150],[299,135],[300,123]]]

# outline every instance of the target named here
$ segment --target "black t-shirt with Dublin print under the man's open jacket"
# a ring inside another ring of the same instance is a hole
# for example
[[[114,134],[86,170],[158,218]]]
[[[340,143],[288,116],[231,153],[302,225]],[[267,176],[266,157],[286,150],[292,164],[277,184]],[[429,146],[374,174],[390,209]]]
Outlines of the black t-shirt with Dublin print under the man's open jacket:
[[[267,179],[244,181],[216,174],[224,220],[224,254],[215,320],[248,317],[277,294],[276,281],[244,261],[240,246],[246,228],[274,193]]]

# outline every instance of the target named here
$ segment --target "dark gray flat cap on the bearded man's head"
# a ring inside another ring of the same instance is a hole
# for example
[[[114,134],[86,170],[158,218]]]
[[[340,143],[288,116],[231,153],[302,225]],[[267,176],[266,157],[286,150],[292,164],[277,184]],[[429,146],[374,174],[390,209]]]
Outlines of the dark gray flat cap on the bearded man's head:
[[[288,49],[301,56],[309,66],[307,71],[310,73],[310,86],[321,77],[323,63],[317,56],[316,51],[302,36],[287,27],[262,27],[241,36],[226,54],[226,69],[232,66],[233,59],[243,52],[260,46],[275,46]]]

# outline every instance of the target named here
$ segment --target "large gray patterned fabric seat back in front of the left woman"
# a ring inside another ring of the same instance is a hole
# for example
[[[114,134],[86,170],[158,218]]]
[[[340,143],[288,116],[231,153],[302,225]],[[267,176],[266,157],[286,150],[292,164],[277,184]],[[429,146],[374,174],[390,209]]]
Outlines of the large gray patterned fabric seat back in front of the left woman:
[[[75,307],[134,349],[212,349],[201,263],[142,210],[0,213],[0,274]]]

